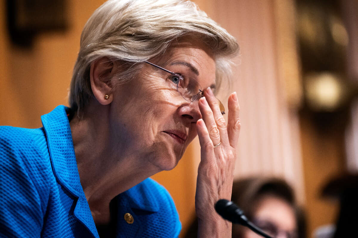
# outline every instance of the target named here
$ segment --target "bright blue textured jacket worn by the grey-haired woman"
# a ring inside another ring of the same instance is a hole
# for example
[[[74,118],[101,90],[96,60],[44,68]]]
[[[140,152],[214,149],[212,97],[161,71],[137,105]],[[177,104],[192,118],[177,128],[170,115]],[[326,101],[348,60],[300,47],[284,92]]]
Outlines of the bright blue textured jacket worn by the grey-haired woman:
[[[64,106],[42,128],[0,127],[0,237],[98,237]],[[117,196],[117,237],[177,237],[173,200],[148,178]],[[127,223],[124,214],[134,218]]]

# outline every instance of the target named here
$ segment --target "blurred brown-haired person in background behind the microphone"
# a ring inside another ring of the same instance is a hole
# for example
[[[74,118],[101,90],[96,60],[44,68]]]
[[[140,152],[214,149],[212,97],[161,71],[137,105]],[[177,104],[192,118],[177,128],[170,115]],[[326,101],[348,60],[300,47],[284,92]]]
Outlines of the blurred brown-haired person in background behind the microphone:
[[[293,189],[283,179],[250,177],[234,181],[231,201],[263,232],[276,238],[304,238],[303,210],[295,203]],[[185,238],[197,237],[197,220]],[[233,224],[233,238],[260,238],[249,228]]]

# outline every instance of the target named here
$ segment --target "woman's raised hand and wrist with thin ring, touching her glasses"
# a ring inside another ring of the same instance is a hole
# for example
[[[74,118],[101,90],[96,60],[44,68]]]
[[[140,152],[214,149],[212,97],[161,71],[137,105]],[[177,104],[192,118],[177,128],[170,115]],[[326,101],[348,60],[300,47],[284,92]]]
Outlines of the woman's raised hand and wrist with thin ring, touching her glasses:
[[[236,146],[241,127],[240,106],[236,92],[232,93],[228,100],[226,123],[210,88],[205,90],[204,96],[199,100],[203,119],[197,122],[201,147],[195,194],[198,237],[231,237],[231,223],[216,213],[214,205],[219,199],[231,200]]]

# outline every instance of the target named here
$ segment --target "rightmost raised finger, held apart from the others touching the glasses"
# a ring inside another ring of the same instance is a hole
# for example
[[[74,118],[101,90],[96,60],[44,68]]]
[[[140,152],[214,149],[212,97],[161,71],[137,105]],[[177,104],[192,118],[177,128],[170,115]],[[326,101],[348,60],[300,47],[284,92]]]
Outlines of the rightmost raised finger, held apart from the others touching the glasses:
[[[229,138],[229,143],[232,147],[236,148],[237,142],[240,134],[240,105],[237,100],[236,92],[231,93],[228,100],[228,125],[227,133]]]

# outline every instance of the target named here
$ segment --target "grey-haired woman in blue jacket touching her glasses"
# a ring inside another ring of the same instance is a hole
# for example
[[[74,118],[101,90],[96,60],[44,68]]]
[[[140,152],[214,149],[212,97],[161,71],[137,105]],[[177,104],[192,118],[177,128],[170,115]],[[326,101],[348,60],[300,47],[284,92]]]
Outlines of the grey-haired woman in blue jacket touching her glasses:
[[[231,197],[240,131],[228,79],[235,39],[189,1],[110,0],[84,26],[70,108],[43,127],[1,127],[1,237],[177,237],[168,192],[149,177],[173,169],[198,134],[199,237],[231,237],[214,211]]]

